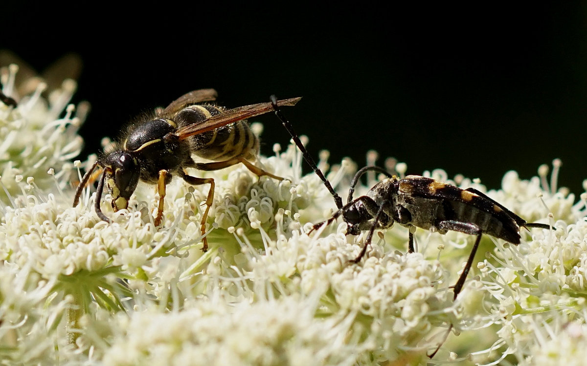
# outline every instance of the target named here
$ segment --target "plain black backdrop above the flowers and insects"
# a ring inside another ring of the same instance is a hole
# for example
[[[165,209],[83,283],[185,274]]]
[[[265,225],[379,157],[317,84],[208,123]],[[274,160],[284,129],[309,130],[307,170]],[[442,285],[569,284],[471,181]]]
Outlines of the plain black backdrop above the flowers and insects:
[[[303,96],[284,113],[312,155],[328,149],[331,162],[363,165],[375,149],[409,173],[443,168],[498,188],[508,170],[529,178],[561,158],[559,182],[582,192],[580,3],[185,4],[11,4],[0,46],[40,70],[66,52],[82,56],[75,101],[92,103],[85,155],[139,111],[214,87],[228,107]],[[272,114],[255,120],[265,126],[262,153],[289,140]]]

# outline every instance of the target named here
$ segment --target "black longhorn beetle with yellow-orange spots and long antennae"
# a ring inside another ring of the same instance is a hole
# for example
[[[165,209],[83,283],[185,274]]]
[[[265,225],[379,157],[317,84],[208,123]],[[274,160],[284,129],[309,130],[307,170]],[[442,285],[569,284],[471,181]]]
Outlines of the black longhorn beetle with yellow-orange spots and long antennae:
[[[341,215],[348,224],[348,234],[357,235],[362,230],[369,230],[359,256],[351,260],[352,263],[358,263],[365,256],[367,246],[371,243],[376,228],[388,229],[396,221],[408,228],[416,226],[426,230],[436,229],[441,234],[447,231],[458,231],[476,235],[477,239],[475,239],[467,263],[453,287],[453,300],[456,300],[463,289],[467,274],[473,265],[481,236],[484,233],[517,245],[520,242],[520,228],[550,228],[544,223],[526,222],[475,188],[461,189],[419,175],[408,175],[400,179],[380,167],[364,167],[357,171],[350,183],[347,203],[343,205],[342,199],[319,170],[311,155],[308,154],[291,123],[279,110],[275,96],[271,96],[271,103],[276,116],[288,130],[302,152],[303,158],[322,179],[338,208],[328,220],[313,225],[310,232],[325,223],[329,225]],[[368,171],[379,172],[386,175],[386,178],[369,189],[366,195],[353,199],[353,193],[359,179]],[[409,232],[408,252],[414,252],[414,235],[411,231]],[[451,328],[452,324],[448,328],[449,332]],[[440,345],[430,355],[430,358],[434,357],[438,349],[440,349]]]

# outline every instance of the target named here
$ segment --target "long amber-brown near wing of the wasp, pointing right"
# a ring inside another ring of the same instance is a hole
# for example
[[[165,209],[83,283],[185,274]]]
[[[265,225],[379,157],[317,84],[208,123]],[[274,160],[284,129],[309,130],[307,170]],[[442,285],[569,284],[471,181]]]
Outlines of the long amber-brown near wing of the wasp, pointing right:
[[[295,106],[295,104],[298,103],[300,99],[302,98],[298,97],[278,100],[277,105],[280,107]],[[215,128],[226,126],[227,124],[245,120],[247,118],[260,116],[261,114],[268,113],[272,110],[273,106],[270,102],[251,104],[250,106],[229,109],[222,113],[216,114],[215,116],[212,116],[201,123],[190,124],[189,126],[181,127],[177,130],[175,135],[180,140],[184,140],[190,136],[205,133],[214,130]]]

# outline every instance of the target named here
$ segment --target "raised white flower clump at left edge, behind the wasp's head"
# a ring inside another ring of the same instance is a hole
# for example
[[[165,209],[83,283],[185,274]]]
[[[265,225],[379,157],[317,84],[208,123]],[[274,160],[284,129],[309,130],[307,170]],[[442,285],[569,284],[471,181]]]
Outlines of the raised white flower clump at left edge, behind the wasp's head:
[[[11,65],[5,71],[1,80],[4,93],[15,96],[18,66]],[[47,174],[51,168],[56,171],[56,178],[69,179],[73,168],[70,160],[83,145],[77,130],[88,110],[87,103],[77,109],[68,106],[76,87],[74,80],[67,79],[45,99],[41,93],[46,84],[39,83],[32,95],[16,96],[16,108],[0,103],[0,199],[4,204],[11,203],[10,195],[21,193],[18,182],[23,178],[32,177],[37,187],[48,189],[55,184],[55,179]],[[65,116],[60,118],[63,111]]]

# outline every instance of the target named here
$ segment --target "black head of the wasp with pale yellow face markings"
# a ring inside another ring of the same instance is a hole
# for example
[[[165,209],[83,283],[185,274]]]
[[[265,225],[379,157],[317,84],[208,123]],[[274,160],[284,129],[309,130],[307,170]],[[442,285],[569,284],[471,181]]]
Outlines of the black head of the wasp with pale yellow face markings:
[[[127,151],[115,151],[106,157],[106,187],[112,195],[114,211],[127,208],[130,195],[137,188],[140,164]]]

